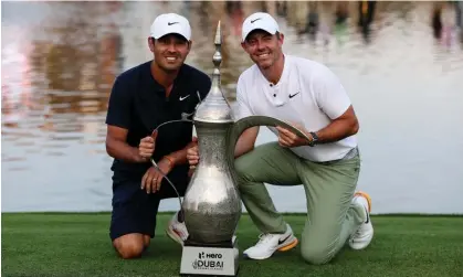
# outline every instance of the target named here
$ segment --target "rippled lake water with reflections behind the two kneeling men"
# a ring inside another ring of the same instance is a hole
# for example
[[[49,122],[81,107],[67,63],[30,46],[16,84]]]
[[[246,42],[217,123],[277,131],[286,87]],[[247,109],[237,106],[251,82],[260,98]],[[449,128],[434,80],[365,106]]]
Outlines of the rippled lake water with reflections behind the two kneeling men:
[[[327,64],[360,120],[359,188],[373,213],[463,213],[463,43],[454,7],[444,4],[434,38],[432,2],[378,2],[366,39],[357,3],[334,24],[335,3],[2,2],[1,209],[109,211],[112,159],[104,124],[112,83],[151,58],[149,25],[162,12],[189,18],[188,63],[212,72],[213,32],[224,30],[222,82],[233,102],[251,65],[240,46],[244,18],[265,9],[284,50]],[[318,19],[315,36],[304,32]],[[262,130],[257,143],[275,140]],[[281,211],[304,212],[302,187],[271,187]],[[161,210],[177,210],[166,200]]]

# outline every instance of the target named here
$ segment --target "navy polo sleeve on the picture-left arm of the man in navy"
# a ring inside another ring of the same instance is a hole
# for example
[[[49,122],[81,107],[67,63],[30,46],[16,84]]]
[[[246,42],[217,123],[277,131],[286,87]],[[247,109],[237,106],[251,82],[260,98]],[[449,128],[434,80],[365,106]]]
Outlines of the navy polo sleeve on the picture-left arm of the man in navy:
[[[116,78],[109,95],[106,124],[120,128],[130,128],[131,95],[126,81]]]

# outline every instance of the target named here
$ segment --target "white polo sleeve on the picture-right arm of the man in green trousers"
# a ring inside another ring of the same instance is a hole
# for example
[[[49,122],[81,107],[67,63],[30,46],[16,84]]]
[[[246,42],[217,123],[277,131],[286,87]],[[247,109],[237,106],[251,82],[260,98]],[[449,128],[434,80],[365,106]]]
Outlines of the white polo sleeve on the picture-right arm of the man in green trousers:
[[[318,107],[330,118],[341,116],[351,105],[339,78],[327,67],[322,66],[315,82],[315,98]]]

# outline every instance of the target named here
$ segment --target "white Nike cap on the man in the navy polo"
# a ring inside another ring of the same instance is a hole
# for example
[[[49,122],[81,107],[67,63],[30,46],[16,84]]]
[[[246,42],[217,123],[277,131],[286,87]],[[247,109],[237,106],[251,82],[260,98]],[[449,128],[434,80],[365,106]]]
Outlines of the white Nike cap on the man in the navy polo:
[[[191,26],[188,19],[177,13],[164,13],[157,17],[151,24],[150,35],[157,40],[169,33],[180,34],[189,41]]]

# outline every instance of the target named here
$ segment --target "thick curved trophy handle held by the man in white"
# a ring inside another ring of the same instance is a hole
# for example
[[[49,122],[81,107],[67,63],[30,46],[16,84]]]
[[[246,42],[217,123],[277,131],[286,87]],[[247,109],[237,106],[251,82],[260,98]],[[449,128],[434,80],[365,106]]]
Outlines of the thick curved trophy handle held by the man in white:
[[[244,118],[241,118],[236,122],[234,122],[232,126],[230,126],[228,130],[228,141],[227,141],[227,163],[230,169],[230,173],[233,178],[233,183],[238,184],[236,173],[234,169],[234,148],[236,146],[238,139],[240,138],[241,134],[243,134],[244,130],[251,127],[255,126],[282,126],[285,129],[288,129],[296,134],[299,137],[303,137],[307,140],[311,140],[303,131],[297,129],[296,127],[292,126],[288,122],[285,122],[283,120],[269,117],[269,116],[248,116]]]

